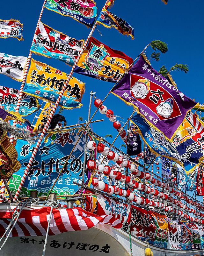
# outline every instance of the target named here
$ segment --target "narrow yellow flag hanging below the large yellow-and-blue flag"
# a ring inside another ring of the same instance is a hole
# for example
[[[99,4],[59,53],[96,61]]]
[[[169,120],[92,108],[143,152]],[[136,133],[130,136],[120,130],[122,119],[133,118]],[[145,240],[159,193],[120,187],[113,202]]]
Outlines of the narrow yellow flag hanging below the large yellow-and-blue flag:
[[[53,104],[50,102],[47,102],[45,104],[45,106],[43,108],[41,108],[41,112],[39,116],[35,116],[37,118],[37,121],[34,125],[32,125],[33,127],[33,132],[36,132],[38,130],[40,130],[40,128],[47,123],[48,117],[51,114],[53,109]]]

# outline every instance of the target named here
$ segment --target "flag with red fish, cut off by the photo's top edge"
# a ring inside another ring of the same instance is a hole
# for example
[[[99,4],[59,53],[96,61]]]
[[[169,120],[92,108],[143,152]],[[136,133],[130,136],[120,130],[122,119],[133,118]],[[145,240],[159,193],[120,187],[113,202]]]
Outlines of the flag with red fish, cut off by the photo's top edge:
[[[93,0],[47,0],[45,7],[69,16],[90,28],[97,15],[96,3]]]

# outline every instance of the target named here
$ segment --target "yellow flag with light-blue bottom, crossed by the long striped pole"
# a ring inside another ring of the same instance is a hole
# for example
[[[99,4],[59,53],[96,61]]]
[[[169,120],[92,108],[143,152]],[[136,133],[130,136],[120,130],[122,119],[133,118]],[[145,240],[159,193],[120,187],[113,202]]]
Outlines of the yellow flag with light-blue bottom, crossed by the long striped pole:
[[[66,73],[32,59],[26,77],[24,92],[42,100],[55,103],[67,77]],[[59,105],[67,109],[80,108],[82,106],[81,99],[84,90],[84,83],[72,76]]]

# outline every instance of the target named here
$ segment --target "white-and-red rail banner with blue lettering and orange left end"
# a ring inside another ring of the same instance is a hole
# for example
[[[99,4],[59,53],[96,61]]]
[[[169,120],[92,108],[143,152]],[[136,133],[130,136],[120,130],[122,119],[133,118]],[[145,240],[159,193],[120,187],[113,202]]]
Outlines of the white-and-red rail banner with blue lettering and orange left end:
[[[90,192],[86,190],[86,192]],[[130,204],[118,202],[103,195],[86,196],[86,211],[97,215],[112,215],[121,220],[122,228],[129,231],[131,212]]]

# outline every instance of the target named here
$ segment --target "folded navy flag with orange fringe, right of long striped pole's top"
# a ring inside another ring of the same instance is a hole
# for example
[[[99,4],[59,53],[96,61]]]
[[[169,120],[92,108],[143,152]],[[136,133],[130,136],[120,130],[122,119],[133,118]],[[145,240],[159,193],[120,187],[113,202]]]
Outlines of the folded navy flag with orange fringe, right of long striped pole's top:
[[[106,28],[116,28],[121,34],[131,36],[134,39],[134,28],[127,21],[106,9],[102,9],[96,22]]]

